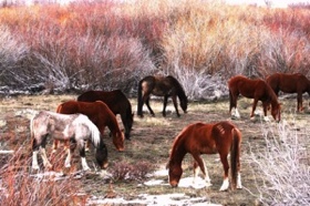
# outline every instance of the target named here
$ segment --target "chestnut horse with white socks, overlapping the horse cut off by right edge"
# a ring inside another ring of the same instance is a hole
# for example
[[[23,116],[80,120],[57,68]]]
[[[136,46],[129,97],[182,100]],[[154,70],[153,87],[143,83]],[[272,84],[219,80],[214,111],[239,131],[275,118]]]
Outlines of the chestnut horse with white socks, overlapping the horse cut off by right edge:
[[[240,117],[237,110],[237,99],[239,94],[245,97],[254,99],[252,111],[250,117],[254,117],[254,112],[258,101],[262,102],[265,121],[268,121],[267,110],[271,104],[271,115],[279,122],[281,119],[281,106],[278,102],[278,97],[272,91],[272,89],[261,79],[250,80],[242,75],[232,76],[228,81],[229,89],[229,112],[231,113],[232,109],[236,109],[236,116]]]

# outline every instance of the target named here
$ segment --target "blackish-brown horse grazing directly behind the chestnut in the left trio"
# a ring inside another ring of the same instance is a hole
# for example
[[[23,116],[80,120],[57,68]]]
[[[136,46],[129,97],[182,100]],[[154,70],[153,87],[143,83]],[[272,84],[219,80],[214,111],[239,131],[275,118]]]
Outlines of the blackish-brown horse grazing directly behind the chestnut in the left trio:
[[[132,104],[121,90],[105,91],[87,91],[78,96],[80,102],[104,102],[114,115],[120,114],[125,128],[126,140],[131,138],[131,131],[134,122]]]

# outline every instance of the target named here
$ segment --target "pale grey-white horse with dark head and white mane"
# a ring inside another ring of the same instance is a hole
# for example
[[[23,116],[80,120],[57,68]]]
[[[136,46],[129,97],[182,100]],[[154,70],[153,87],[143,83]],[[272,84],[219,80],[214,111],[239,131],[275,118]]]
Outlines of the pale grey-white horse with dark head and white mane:
[[[95,157],[102,169],[107,166],[107,150],[103,143],[97,127],[83,114],[58,114],[54,112],[41,111],[30,122],[32,140],[32,168],[39,169],[38,153],[41,153],[45,168],[52,168],[46,157],[45,144],[50,136],[60,141],[73,141],[80,150],[82,167],[90,169],[85,159],[85,141],[91,141],[96,147]],[[74,148],[73,148],[74,150]],[[71,151],[68,148],[68,156],[64,162],[65,167],[71,164]]]

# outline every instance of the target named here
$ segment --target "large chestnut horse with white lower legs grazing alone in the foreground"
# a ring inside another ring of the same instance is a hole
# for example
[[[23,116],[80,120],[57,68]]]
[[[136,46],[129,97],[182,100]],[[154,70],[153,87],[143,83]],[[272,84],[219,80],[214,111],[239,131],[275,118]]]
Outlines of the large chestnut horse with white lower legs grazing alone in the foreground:
[[[186,126],[175,137],[169,155],[167,168],[170,186],[177,187],[183,173],[182,162],[187,153],[194,157],[194,183],[200,168],[206,186],[210,186],[208,171],[200,155],[218,153],[224,167],[224,182],[219,190],[227,190],[229,187],[227,156],[230,153],[232,188],[242,188],[240,177],[240,131],[227,121],[213,124],[198,122]]]

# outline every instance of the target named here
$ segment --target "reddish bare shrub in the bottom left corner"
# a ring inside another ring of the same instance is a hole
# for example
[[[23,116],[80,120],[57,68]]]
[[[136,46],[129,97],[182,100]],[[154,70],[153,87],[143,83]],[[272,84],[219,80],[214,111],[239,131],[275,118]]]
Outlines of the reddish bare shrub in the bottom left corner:
[[[31,175],[30,159],[24,147],[19,147],[1,166],[1,205],[85,205],[87,196],[82,194],[76,179],[56,181],[51,175]]]

